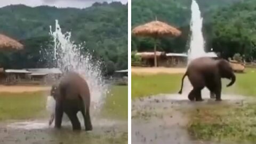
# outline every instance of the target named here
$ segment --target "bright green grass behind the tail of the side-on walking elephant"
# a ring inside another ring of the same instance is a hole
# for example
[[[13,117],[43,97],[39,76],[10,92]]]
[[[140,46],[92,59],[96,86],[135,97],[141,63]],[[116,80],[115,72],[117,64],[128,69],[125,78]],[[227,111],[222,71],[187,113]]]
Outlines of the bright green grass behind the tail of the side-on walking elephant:
[[[132,99],[159,93],[178,93],[183,74],[132,74]]]

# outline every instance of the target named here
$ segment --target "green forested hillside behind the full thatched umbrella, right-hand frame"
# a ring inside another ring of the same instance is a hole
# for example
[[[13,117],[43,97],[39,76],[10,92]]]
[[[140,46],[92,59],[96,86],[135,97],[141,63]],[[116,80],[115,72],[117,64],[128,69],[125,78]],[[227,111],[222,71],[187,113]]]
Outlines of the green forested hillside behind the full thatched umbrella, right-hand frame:
[[[247,60],[256,59],[255,22],[256,1],[198,0],[203,17],[203,34],[206,51],[211,48],[224,58],[235,53],[245,55]],[[179,28],[182,35],[177,38],[161,38],[158,50],[166,52],[186,52],[189,45],[189,24],[191,0],[132,0],[132,27],[142,23],[161,20]],[[153,50],[150,38],[132,36],[132,50]]]

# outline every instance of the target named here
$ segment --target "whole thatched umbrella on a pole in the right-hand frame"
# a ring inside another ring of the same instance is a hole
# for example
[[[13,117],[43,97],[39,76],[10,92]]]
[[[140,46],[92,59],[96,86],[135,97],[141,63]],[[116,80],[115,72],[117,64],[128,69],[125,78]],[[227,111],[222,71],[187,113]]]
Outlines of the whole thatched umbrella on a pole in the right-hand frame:
[[[145,25],[135,27],[132,30],[132,34],[136,36],[149,36],[155,39],[154,59],[155,59],[155,67],[157,67],[156,39],[161,36],[180,36],[181,31],[178,30],[177,28],[167,25],[167,23],[155,20],[155,21],[146,23]]]

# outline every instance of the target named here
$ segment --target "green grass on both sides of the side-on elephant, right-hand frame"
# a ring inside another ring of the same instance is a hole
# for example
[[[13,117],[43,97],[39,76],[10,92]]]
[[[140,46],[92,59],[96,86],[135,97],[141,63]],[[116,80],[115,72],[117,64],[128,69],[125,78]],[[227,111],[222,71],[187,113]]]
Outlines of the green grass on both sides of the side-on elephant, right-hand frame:
[[[147,97],[159,93],[178,93],[183,74],[132,74],[132,98]],[[236,74],[237,80],[234,86],[225,87],[226,79],[223,79],[223,93],[234,93],[256,96],[254,82],[256,69],[247,68],[245,74]]]

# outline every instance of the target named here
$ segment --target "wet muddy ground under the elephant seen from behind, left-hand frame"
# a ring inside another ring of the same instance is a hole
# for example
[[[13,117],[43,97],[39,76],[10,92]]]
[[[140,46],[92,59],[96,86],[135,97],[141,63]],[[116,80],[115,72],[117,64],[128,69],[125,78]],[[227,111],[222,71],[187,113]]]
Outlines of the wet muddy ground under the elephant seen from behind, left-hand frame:
[[[49,126],[47,119],[0,124],[0,143],[127,143],[127,122],[93,119],[93,131],[73,132],[64,122],[61,130]],[[83,121],[81,121],[81,125]]]

